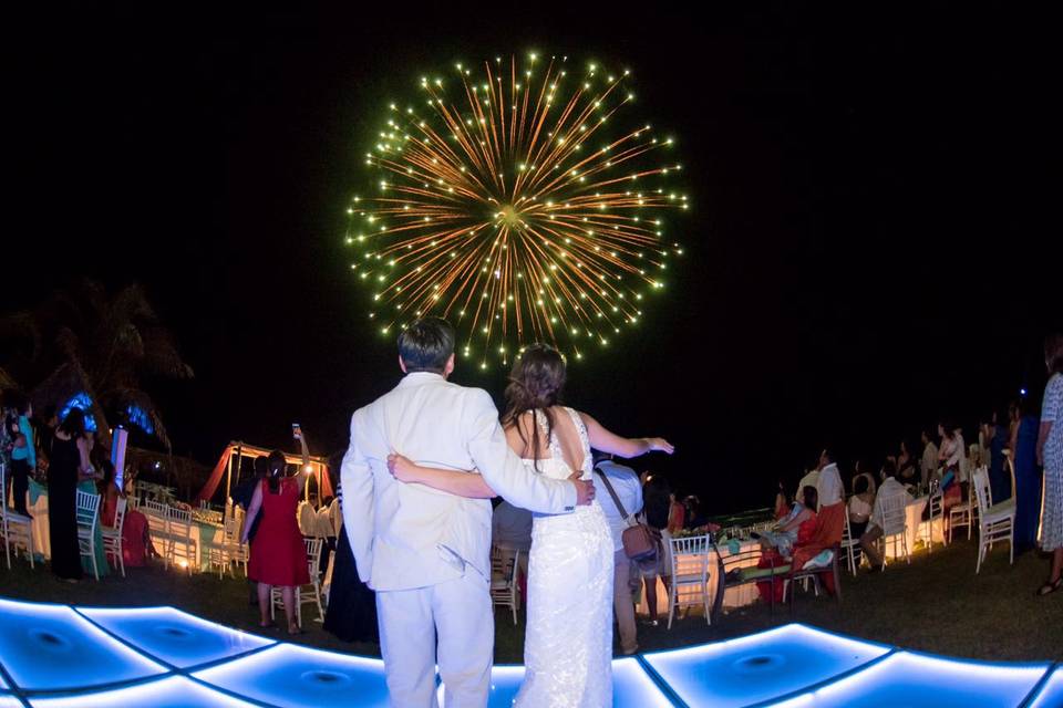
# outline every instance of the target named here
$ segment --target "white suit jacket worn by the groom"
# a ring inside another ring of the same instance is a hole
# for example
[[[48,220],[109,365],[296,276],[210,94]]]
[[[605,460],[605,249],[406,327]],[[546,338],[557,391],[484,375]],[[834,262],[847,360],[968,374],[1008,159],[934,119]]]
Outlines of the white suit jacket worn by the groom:
[[[407,374],[351,417],[343,456],[343,527],[359,574],[376,591],[426,587],[466,565],[491,577],[491,502],[396,481],[388,455],[425,467],[473,470],[517,507],[564,513],[576,488],[528,470],[506,445],[487,392],[438,374]]]

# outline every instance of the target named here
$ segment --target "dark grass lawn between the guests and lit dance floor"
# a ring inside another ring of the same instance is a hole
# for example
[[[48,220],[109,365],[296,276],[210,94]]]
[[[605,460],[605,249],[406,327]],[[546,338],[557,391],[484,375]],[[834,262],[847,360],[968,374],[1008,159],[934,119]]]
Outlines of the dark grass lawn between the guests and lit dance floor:
[[[698,612],[679,620],[672,629],[663,624],[640,624],[640,650],[651,652],[713,642],[765,629],[791,621],[823,627],[855,637],[905,648],[990,660],[1063,660],[1063,592],[1035,597],[1034,591],[1047,575],[1047,561],[1026,553],[1008,565],[1007,545],[995,548],[974,575],[977,544],[957,541],[948,549],[935,546],[932,555],[920,551],[911,565],[891,563],[885,573],[863,571],[857,577],[847,572],[842,579],[844,602],[840,607],[826,597],[799,594],[791,615],[776,607],[774,616],[766,605],[732,611],[712,627]],[[579,592],[574,587],[572,592]],[[128,576],[110,576],[102,582],[83,581],[76,585],[55,580],[47,568],[30,571],[22,561],[12,570],[0,565],[0,595],[37,602],[56,602],[97,606],[173,605],[186,612],[258,632],[258,612],[248,606],[244,579],[218,580],[217,575],[188,576],[159,566],[130,569]],[[309,618],[309,608],[305,608]],[[514,627],[510,616],[499,611],[495,618],[495,660],[520,663],[524,644],[524,617]],[[345,644],[306,622],[306,634],[295,642],[309,646],[379,655],[371,644]],[[274,631],[275,638],[287,634]]]

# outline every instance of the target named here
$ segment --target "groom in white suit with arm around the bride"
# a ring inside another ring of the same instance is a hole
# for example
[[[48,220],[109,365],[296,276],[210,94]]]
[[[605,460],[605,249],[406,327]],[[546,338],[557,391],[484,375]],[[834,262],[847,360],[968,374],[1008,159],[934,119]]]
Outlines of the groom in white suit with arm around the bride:
[[[454,371],[454,329],[417,320],[399,336],[395,388],[351,418],[343,456],[343,528],[359,572],[376,591],[380,648],[391,705],[437,705],[435,667],[445,705],[487,705],[494,652],[491,604],[491,502],[396,481],[388,455],[417,464],[477,470],[517,507],[571,511],[594,486],[534,475],[506,445],[498,410],[479,388],[446,379]]]

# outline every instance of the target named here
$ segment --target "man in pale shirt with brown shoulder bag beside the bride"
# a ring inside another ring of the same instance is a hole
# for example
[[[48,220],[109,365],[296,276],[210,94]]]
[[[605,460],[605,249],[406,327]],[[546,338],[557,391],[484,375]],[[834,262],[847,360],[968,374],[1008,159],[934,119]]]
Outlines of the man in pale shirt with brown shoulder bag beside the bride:
[[[632,563],[628,554],[623,551],[623,530],[630,523],[634,514],[642,510],[642,485],[639,483],[639,476],[630,467],[617,465],[612,461],[612,456],[595,450],[595,490],[598,503],[606,514],[609,522],[609,530],[612,532],[613,554],[613,576],[612,576],[612,610],[617,615],[617,625],[620,627],[620,650],[626,655],[634,654],[638,648],[634,625],[634,601],[631,596]],[[609,480],[609,486],[616,492],[620,506],[627,512],[625,517],[617,508],[612,494],[609,493],[605,480]],[[634,581],[638,582],[639,575],[634,573]]]

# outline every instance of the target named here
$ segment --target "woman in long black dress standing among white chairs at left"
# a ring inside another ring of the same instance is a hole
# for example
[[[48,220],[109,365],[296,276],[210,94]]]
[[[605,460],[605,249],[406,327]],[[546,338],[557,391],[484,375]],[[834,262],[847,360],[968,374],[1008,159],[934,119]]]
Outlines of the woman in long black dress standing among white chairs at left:
[[[78,482],[90,469],[85,414],[71,408],[55,430],[48,466],[48,532],[52,572],[66,582],[81,580],[78,545]]]

